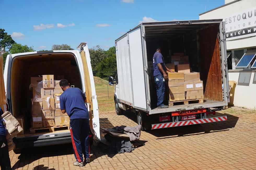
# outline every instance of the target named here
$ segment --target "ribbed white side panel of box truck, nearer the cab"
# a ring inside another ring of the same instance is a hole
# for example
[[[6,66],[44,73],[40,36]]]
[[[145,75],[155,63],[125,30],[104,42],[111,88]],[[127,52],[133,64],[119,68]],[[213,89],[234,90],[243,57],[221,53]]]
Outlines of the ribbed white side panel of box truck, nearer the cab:
[[[133,106],[133,92],[131,79],[131,65],[129,57],[128,37],[125,36],[116,42],[117,72],[118,72],[118,99],[131,103]]]

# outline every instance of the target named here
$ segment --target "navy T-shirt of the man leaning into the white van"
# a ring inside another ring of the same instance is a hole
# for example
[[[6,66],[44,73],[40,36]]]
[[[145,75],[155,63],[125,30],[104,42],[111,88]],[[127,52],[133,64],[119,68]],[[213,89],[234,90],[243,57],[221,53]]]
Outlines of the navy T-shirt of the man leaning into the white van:
[[[84,103],[85,99],[86,97],[82,90],[70,87],[60,95],[60,109],[66,109],[70,119],[89,119],[88,110]]]

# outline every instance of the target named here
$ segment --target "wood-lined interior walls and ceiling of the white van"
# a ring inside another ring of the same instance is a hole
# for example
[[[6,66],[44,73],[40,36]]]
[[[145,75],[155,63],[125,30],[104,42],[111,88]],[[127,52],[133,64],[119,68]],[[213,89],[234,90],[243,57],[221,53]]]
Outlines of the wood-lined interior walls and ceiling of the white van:
[[[32,90],[30,77],[53,74],[64,75],[70,85],[81,89],[81,80],[73,54],[47,53],[15,57],[11,70],[11,100],[13,115],[31,115]]]

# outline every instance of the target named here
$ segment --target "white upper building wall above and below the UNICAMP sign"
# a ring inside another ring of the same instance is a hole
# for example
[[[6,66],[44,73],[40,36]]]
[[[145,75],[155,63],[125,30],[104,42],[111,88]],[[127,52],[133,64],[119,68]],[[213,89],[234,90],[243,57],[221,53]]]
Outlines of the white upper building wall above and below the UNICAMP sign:
[[[227,0],[229,2],[231,0]],[[225,1],[226,4],[226,1]],[[237,13],[242,10],[250,9],[256,6],[256,0],[241,0],[232,4],[220,7],[216,10],[206,12],[205,14],[199,15],[200,20],[206,19],[223,19],[225,16]],[[248,48],[256,46],[256,37],[248,37],[244,39],[226,41],[227,50]]]

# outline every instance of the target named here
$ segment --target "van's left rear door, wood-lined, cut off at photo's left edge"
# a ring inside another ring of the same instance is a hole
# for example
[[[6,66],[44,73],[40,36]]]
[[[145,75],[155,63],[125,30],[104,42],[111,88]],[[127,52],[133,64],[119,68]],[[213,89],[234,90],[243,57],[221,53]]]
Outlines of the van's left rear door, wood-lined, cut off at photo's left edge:
[[[6,111],[6,96],[4,89],[4,67],[3,67],[3,51],[0,50],[0,107],[3,111]]]

